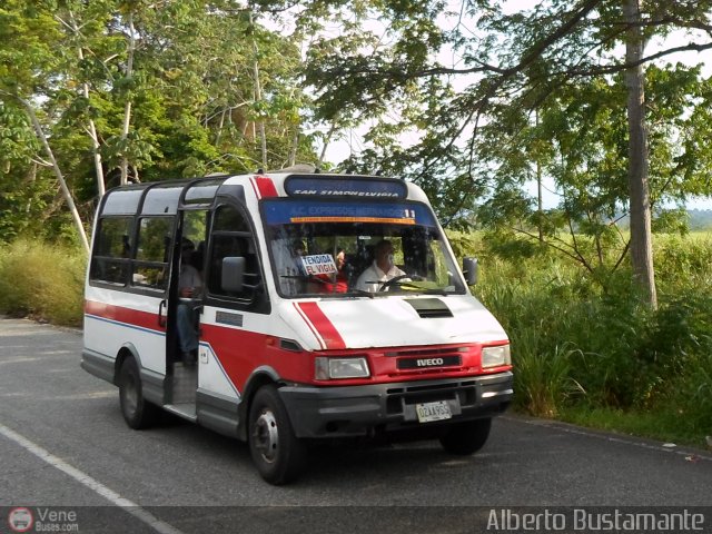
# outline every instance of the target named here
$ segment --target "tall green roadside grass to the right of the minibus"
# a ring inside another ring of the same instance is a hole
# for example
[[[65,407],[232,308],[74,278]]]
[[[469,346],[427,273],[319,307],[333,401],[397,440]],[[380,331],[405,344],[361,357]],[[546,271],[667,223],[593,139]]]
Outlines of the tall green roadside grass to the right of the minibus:
[[[698,445],[712,434],[710,240],[657,237],[656,310],[626,268],[594,279],[546,253],[478,254],[475,293],[511,337],[520,409]]]

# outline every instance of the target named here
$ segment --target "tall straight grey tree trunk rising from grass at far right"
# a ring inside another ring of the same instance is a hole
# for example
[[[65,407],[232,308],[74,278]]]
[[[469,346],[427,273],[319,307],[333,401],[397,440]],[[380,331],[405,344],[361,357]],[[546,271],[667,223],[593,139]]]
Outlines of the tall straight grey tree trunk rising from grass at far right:
[[[624,0],[623,11],[629,24],[625,60],[633,65],[643,57],[643,32],[639,0]],[[645,125],[645,88],[642,65],[625,71],[627,86],[629,125],[629,190],[631,211],[631,263],[633,276],[645,291],[651,307],[657,307],[655,273],[653,270],[653,241],[647,176],[647,135]]]

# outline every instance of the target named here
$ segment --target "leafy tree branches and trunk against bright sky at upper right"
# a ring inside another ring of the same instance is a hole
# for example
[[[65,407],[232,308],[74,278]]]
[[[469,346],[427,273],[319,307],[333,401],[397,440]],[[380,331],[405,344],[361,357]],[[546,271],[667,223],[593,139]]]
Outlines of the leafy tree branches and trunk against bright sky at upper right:
[[[350,166],[408,176],[445,220],[464,226],[476,218],[495,227],[500,240],[548,243],[589,270],[616,269],[615,256],[594,265],[615,248],[619,258],[630,256],[641,296],[654,307],[651,208],[709,195],[711,152],[703,147],[708,80],[695,69],[652,67],[673,51],[712,47],[705,30],[712,4],[366,6],[362,20],[377,19],[379,30],[350,27],[320,39],[307,70],[322,116],[373,125],[373,148]],[[668,40],[682,31],[683,44]],[[653,39],[662,47],[647,52]],[[415,139],[404,146],[405,134]],[[544,178],[560,195],[555,209],[526,190]],[[621,211],[630,216],[626,239],[611,224]],[[655,215],[657,226],[676,219]],[[562,231],[577,239],[563,244]]]

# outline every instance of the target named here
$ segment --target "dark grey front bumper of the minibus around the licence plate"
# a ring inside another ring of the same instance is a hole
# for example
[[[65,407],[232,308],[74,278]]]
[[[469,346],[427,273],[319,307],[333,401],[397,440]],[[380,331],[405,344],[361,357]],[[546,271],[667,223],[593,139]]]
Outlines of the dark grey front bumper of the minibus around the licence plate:
[[[504,412],[512,400],[513,375],[414,380],[366,386],[281,387],[279,393],[297,437],[348,437],[452,424]],[[418,423],[415,405],[446,400],[453,417]]]

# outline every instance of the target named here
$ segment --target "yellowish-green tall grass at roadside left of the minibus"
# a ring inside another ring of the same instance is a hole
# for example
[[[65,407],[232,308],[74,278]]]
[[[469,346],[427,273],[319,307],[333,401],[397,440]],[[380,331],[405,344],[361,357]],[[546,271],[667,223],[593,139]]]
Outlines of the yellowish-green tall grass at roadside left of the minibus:
[[[79,326],[86,257],[76,248],[19,240],[0,248],[0,313]]]

